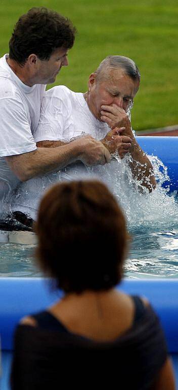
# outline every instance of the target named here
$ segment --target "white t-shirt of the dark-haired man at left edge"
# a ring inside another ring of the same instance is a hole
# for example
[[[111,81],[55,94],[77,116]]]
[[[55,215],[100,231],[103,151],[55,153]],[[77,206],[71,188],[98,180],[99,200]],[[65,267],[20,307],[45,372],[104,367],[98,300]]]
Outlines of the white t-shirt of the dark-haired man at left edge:
[[[20,182],[4,157],[36,149],[33,132],[45,90],[45,85],[22,83],[6,58],[8,54],[0,59],[0,214],[9,211],[11,191]]]

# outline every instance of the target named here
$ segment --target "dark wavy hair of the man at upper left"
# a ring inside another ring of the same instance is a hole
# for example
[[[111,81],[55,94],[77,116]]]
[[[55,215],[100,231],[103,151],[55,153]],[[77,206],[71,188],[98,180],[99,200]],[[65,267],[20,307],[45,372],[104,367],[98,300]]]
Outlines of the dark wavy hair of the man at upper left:
[[[54,50],[73,46],[75,32],[69,19],[47,8],[34,7],[16,23],[9,42],[9,57],[22,66],[32,53],[48,60]]]

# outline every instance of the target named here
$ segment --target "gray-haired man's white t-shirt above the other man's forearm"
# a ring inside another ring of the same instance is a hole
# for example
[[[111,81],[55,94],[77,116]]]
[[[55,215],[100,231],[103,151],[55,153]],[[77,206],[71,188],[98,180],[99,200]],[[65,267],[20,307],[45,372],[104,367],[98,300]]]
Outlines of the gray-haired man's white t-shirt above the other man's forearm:
[[[34,139],[35,142],[68,141],[82,134],[90,134],[100,140],[108,131],[108,125],[91,113],[83,93],[73,92],[61,85],[45,92]]]

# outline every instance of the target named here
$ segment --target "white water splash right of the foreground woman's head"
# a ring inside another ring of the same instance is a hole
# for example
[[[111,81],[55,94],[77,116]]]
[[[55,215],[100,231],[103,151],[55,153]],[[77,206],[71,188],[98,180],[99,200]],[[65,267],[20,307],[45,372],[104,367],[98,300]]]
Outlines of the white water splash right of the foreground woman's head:
[[[109,186],[125,213],[129,231],[134,233],[140,229],[143,233],[173,229],[174,226],[178,228],[177,202],[174,197],[167,196],[169,187],[161,186],[170,180],[162,161],[156,156],[149,156],[157,180],[155,190],[149,193],[137,179],[133,179],[128,167],[130,156],[120,159],[115,154],[113,157],[110,164],[90,169],[90,177],[93,173]]]

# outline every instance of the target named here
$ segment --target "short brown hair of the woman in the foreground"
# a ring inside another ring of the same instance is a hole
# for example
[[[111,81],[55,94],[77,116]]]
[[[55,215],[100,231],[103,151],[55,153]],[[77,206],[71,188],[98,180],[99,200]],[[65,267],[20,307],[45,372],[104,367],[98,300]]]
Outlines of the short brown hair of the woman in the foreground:
[[[66,293],[106,290],[120,281],[125,218],[103,183],[54,185],[41,200],[35,228],[40,268]]]

